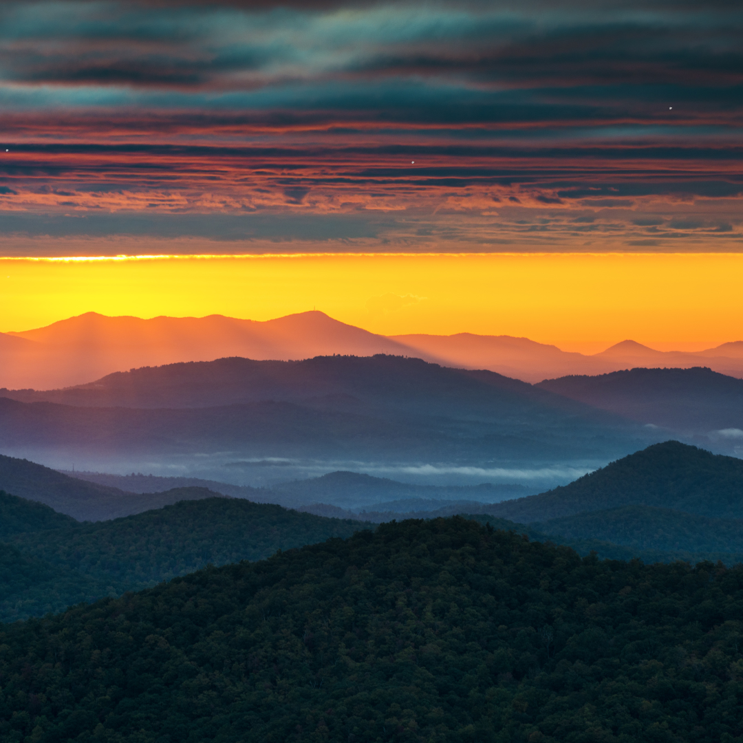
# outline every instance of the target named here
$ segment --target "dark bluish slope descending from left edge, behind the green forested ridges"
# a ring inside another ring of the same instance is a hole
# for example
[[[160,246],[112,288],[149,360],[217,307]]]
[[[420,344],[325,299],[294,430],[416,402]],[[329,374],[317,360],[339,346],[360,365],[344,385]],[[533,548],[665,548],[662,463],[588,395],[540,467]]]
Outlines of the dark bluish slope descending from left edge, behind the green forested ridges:
[[[102,521],[141,513],[182,500],[210,498],[206,488],[180,488],[168,493],[137,495],[68,477],[27,459],[0,455],[0,489],[44,503],[77,521]]]

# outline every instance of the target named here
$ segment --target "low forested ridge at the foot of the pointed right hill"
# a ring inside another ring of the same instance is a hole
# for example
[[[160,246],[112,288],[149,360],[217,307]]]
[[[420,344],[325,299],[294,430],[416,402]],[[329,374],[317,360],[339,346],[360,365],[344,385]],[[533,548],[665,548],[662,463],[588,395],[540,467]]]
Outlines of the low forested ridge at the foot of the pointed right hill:
[[[640,549],[743,552],[743,520],[708,519],[652,506],[623,506],[534,524],[547,534],[603,539]]]

